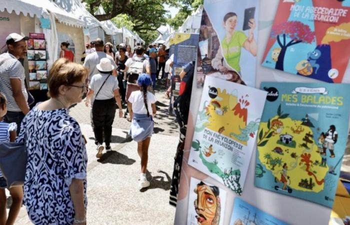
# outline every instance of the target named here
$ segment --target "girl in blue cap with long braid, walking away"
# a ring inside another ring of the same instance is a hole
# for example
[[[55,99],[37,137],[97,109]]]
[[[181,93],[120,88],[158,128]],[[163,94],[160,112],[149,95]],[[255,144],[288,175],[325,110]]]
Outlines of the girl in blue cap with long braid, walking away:
[[[148,74],[142,73],[138,76],[138,91],[133,91],[128,98],[128,106],[131,108],[132,116],[129,134],[131,138],[137,142],[137,152],[141,158],[141,174],[139,180],[139,188],[150,185],[146,178],[148,147],[150,137],[153,133],[153,117],[156,113],[155,96],[147,91],[152,81]],[[152,114],[150,114],[152,113]]]

